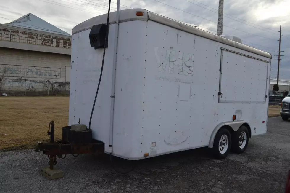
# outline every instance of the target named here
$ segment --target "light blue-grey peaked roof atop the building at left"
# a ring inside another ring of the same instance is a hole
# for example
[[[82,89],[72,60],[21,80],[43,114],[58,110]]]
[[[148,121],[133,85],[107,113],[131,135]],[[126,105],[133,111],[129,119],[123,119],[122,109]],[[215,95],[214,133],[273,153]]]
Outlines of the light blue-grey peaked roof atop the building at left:
[[[54,25],[51,25],[36,15],[33,15],[32,13],[28,13],[27,15],[24,15],[10,23],[5,23],[4,25],[71,36],[67,32],[55,27]]]

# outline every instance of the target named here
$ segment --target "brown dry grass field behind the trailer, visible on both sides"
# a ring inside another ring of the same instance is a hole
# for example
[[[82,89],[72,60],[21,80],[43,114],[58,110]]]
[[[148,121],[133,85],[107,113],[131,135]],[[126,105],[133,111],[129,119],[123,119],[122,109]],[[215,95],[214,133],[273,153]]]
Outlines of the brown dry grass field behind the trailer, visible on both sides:
[[[34,147],[48,141],[48,124],[55,121],[55,139],[68,124],[69,97],[0,97],[0,150]],[[269,117],[280,106],[269,106]]]

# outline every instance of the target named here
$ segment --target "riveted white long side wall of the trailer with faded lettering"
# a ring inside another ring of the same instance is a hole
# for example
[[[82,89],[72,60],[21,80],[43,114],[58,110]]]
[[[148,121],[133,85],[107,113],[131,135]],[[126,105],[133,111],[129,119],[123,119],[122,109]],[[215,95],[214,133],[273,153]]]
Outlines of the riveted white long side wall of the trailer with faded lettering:
[[[227,67],[244,71],[221,68],[225,49],[238,53],[230,55]],[[117,53],[114,155],[143,159],[144,153],[208,146],[214,128],[232,121],[233,114],[249,123],[252,135],[266,132],[269,58],[151,20],[120,23]],[[219,102],[225,96],[218,96],[224,78],[237,82],[237,97],[254,93],[259,103]]]

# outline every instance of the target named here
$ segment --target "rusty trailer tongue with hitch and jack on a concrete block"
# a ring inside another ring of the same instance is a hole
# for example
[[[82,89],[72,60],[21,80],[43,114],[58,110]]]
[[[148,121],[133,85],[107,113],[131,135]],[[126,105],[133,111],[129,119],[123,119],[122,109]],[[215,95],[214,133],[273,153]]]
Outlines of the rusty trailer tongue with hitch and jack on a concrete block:
[[[43,154],[49,157],[49,167],[41,168],[41,174],[49,179],[62,178],[64,175],[63,171],[54,168],[54,165],[57,164],[57,158],[64,159],[67,154],[72,154],[74,157],[77,157],[79,154],[104,153],[104,143],[101,141],[92,139],[86,143],[74,143],[75,141],[83,142],[84,140],[81,139],[83,135],[80,133],[77,133],[77,135],[70,135],[70,138],[72,138],[71,136],[80,136],[74,138],[75,141],[71,141],[67,140],[67,133],[73,133],[71,131],[71,126],[62,128],[61,141],[54,141],[54,121],[51,121],[49,123],[49,130],[47,131],[47,135],[50,135],[50,141],[48,143],[38,142],[35,148],[35,151],[42,151]]]

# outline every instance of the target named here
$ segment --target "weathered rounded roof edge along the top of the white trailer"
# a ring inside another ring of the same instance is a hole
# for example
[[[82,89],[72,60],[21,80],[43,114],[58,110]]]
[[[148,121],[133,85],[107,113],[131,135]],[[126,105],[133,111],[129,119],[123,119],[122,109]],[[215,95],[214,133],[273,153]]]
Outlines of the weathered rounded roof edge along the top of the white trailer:
[[[136,12],[143,12],[143,16],[136,16]],[[188,33],[197,35],[197,36],[201,36],[207,39],[211,39],[213,41],[216,42],[220,42],[229,46],[233,46],[236,48],[239,48],[241,50],[245,50],[248,52],[252,52],[254,54],[257,55],[261,55],[264,56],[266,58],[272,58],[272,55],[268,52],[264,52],[262,50],[258,50],[256,48],[244,45],[244,44],[240,44],[238,42],[234,42],[230,39],[226,39],[223,37],[220,37],[218,35],[212,34],[210,32],[204,31],[202,29],[193,27],[191,25],[187,25],[185,23],[170,19],[168,17],[164,17],[162,15],[158,15],[156,13],[150,12],[146,9],[125,9],[125,10],[120,10],[120,15],[119,15],[119,22],[126,22],[126,21],[133,21],[133,20],[152,20],[155,21],[157,23],[161,23],[163,25],[167,25],[182,31],[186,31]],[[76,25],[73,29],[72,29],[72,35],[76,34],[80,31],[85,31],[88,29],[91,29],[93,25],[98,25],[98,24],[102,24],[102,23],[106,23],[107,22],[107,14],[103,14],[103,15],[99,15],[96,17],[93,17],[91,19],[88,19],[78,25]],[[111,12],[110,16],[109,16],[109,23],[116,23],[116,12]]]

